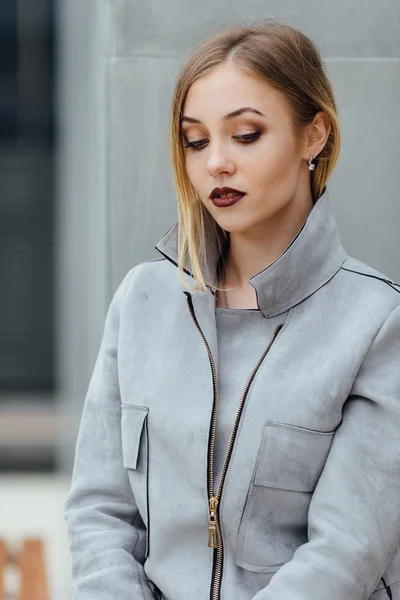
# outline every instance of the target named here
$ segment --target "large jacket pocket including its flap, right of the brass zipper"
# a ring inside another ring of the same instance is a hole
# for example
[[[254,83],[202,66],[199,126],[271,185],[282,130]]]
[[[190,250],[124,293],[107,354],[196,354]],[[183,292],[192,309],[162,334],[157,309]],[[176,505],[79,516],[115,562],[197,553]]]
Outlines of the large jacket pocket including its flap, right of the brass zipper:
[[[308,508],[335,432],[267,421],[237,536],[237,565],[272,573],[308,541]]]

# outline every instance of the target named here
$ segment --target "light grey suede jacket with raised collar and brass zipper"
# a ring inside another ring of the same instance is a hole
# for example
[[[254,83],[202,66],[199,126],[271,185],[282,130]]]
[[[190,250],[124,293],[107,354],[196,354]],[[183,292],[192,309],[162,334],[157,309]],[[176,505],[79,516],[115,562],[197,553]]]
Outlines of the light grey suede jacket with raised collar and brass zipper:
[[[179,282],[177,223],[156,247],[115,293],[83,407],[73,599],[400,600],[400,286],[346,255],[325,192],[250,280],[274,329],[235,373],[217,490],[214,292]],[[217,258],[210,237],[210,282]]]

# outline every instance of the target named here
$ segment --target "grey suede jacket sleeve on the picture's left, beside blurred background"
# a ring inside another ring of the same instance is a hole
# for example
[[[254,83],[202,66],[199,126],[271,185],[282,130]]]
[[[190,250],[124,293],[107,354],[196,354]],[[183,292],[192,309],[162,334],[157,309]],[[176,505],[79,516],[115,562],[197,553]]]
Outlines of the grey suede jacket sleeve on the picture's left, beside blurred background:
[[[117,366],[120,309],[129,276],[108,309],[75,448],[64,505],[72,556],[73,600],[153,600],[133,552],[137,507],[122,463]]]

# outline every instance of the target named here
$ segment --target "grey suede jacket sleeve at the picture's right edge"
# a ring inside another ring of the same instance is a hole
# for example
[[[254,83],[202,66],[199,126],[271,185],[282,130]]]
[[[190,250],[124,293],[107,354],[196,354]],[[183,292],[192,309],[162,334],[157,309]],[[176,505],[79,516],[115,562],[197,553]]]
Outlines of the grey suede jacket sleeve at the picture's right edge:
[[[368,600],[398,549],[399,306],[371,344],[342,417],[311,499],[308,542],[253,600]]]

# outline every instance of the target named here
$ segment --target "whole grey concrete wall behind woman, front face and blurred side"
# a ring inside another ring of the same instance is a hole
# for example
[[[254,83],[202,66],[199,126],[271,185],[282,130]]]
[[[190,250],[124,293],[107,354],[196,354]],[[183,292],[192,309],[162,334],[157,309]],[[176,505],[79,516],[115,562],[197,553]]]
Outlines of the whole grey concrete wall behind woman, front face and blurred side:
[[[170,96],[185,55],[204,34],[273,17],[316,42],[342,126],[328,189],[344,246],[400,280],[400,3],[59,2],[66,57],[60,374],[68,465],[111,294],[128,269],[158,255],[154,245],[176,219]]]

